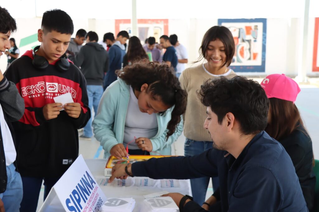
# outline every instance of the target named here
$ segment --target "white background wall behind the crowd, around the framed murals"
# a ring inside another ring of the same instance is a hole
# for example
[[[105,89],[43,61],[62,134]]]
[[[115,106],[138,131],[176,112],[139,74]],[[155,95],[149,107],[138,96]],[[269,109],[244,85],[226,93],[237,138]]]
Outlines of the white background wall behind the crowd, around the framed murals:
[[[18,18],[18,31],[12,34],[19,46],[20,39],[37,32],[41,26],[41,18]],[[205,32],[212,26],[217,25],[218,19],[169,19],[168,35],[176,34],[180,43],[182,43],[189,53],[189,66],[199,57],[199,47],[201,45]],[[115,32],[115,21],[111,19],[74,19],[74,34],[79,28],[87,31],[95,31],[99,39],[103,39],[106,32]],[[308,26],[308,51],[307,51],[307,73],[312,72],[312,55],[314,39],[315,18],[309,18]],[[267,19],[267,41],[266,41],[266,66],[265,73],[240,73],[246,75],[265,75],[274,73],[283,73],[296,75],[300,42],[300,18],[268,18]],[[38,42],[20,48],[20,52],[35,46]],[[0,69],[4,72],[6,68],[7,57],[3,55],[0,58]]]

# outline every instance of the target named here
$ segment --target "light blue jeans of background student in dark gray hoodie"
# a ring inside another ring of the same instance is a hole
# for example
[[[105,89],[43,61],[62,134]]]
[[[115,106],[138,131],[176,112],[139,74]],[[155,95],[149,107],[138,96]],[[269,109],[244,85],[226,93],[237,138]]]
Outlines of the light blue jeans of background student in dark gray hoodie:
[[[87,96],[89,97],[89,108],[91,109],[91,118],[87,122],[87,124],[85,125],[83,134],[84,134],[84,136],[91,138],[93,136],[93,132],[92,132],[92,121],[93,121],[92,111],[93,110],[92,110],[92,108],[94,108],[94,113],[96,116],[96,114],[98,112],[100,99],[101,99],[102,94],[103,94],[103,86],[101,86],[101,85],[87,85],[86,90],[87,90]]]

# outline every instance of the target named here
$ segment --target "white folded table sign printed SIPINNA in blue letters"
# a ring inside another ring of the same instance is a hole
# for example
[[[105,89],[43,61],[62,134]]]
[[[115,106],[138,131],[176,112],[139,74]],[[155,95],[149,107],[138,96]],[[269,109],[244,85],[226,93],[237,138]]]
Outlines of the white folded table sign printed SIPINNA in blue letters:
[[[52,187],[40,212],[98,212],[106,201],[83,156],[79,155],[70,168]]]

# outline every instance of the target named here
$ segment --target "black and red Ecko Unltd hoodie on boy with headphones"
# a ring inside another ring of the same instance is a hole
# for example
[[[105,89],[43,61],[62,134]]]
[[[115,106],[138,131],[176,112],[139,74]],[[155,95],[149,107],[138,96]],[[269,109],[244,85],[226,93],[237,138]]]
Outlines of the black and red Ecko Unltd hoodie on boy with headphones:
[[[5,72],[25,102],[23,117],[13,123],[17,165],[24,177],[61,177],[78,157],[77,129],[83,128],[91,117],[86,81],[73,64],[64,72],[55,67],[55,62],[40,70],[32,65],[32,60],[32,51],[27,51]],[[80,116],[72,118],[62,110],[57,118],[45,120],[43,107],[65,93],[71,93],[73,101],[81,104]]]

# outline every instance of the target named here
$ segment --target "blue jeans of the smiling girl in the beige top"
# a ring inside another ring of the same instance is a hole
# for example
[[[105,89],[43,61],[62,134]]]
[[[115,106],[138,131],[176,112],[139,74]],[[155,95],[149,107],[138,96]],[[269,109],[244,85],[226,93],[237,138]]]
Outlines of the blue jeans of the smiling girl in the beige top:
[[[184,145],[185,156],[201,154],[206,150],[213,148],[212,144],[213,143],[211,141],[194,141],[186,138]],[[202,205],[205,201],[209,179],[209,177],[201,177],[190,180],[194,201],[199,205]],[[211,180],[213,183],[213,189],[216,190],[219,187],[219,179],[218,177],[213,177]]]

